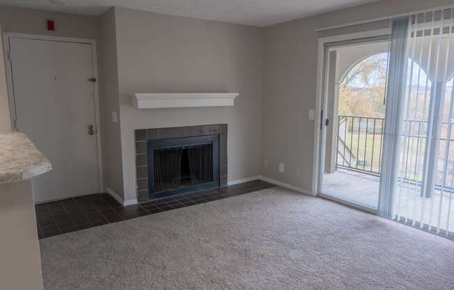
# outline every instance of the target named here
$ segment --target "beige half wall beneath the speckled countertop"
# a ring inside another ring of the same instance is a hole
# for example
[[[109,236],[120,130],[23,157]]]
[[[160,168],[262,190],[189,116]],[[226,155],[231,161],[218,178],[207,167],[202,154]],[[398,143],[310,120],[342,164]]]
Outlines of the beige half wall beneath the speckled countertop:
[[[31,181],[0,183],[1,289],[42,290]]]

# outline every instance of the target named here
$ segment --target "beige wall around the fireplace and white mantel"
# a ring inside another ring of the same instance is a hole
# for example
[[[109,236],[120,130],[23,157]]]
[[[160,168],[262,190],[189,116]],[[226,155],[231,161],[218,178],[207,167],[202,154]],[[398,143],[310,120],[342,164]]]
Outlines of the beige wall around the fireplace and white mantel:
[[[125,199],[136,198],[134,129],[139,128],[228,123],[229,181],[258,175],[263,29],[116,8],[116,31]],[[152,92],[240,96],[234,107],[132,107],[130,94]]]

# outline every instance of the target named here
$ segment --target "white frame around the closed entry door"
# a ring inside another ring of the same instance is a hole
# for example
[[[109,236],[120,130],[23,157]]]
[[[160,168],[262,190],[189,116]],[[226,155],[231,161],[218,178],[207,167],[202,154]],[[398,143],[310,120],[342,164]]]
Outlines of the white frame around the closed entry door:
[[[84,38],[67,38],[60,36],[42,36],[38,34],[24,34],[24,33],[3,33],[3,49],[5,54],[6,66],[6,86],[8,90],[8,102],[10,105],[10,118],[11,130],[16,128],[16,109],[15,109],[15,96],[13,89],[13,68],[10,61],[10,38],[24,38],[31,40],[52,40],[61,41],[65,43],[86,43],[91,45],[91,58],[93,60],[93,77],[97,80],[94,86],[94,101],[95,101],[95,122],[96,122],[96,155],[97,155],[97,176],[98,176],[98,191],[104,192],[103,170],[102,170],[102,148],[101,148],[101,122],[100,122],[100,96],[99,96],[99,82],[97,75],[97,50],[96,40]]]

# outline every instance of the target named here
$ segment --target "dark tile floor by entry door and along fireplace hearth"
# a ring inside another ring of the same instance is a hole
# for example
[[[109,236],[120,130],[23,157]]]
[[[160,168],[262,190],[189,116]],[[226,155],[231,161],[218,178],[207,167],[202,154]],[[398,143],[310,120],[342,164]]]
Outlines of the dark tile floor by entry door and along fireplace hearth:
[[[147,201],[132,206],[122,206],[107,193],[47,202],[36,205],[38,236],[39,238],[47,238],[70,231],[130,220],[134,217],[202,204],[274,186],[264,181],[251,181],[224,188],[192,192],[178,197]]]

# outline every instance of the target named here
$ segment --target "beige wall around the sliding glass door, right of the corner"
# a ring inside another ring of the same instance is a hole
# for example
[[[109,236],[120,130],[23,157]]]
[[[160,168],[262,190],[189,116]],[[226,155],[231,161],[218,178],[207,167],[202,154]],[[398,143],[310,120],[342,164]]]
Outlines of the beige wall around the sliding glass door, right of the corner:
[[[315,108],[317,84],[318,33],[314,29],[453,3],[384,0],[267,27],[262,159],[268,160],[268,167],[262,167],[262,174],[308,192],[312,190],[314,121],[308,120],[308,110]],[[337,33],[348,30],[338,29]],[[279,162],[285,164],[284,174],[279,173]]]

